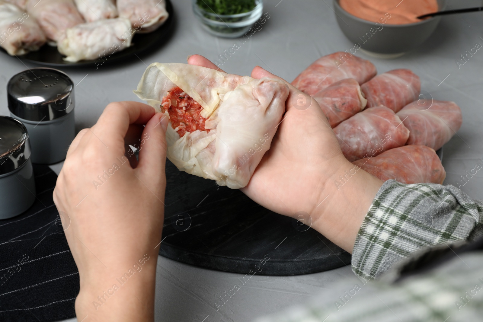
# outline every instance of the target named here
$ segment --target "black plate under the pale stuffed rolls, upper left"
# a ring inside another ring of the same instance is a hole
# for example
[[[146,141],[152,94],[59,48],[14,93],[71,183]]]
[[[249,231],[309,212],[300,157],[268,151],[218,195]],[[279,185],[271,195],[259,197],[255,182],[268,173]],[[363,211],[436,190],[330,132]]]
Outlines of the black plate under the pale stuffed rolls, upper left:
[[[123,51],[114,53],[102,60],[81,60],[76,63],[68,62],[63,59],[57,47],[43,45],[38,51],[30,52],[22,56],[18,56],[22,60],[50,67],[81,67],[81,66],[99,66],[104,62],[115,63],[130,60],[136,54],[142,54],[147,50],[154,48],[156,45],[164,44],[171,36],[174,28],[174,11],[170,0],[166,0],[166,11],[170,14],[165,23],[150,33],[136,33],[132,39],[132,45]],[[0,48],[5,55],[7,52]],[[10,55],[9,55],[10,56]]]

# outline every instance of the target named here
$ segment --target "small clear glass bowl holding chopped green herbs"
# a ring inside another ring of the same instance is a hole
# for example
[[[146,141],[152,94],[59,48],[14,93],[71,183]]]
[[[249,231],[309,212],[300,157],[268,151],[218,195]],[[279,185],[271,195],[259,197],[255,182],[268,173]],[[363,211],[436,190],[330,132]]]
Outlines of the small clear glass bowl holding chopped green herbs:
[[[263,1],[255,0],[252,11],[242,14],[214,14],[201,9],[193,0],[193,12],[201,26],[212,35],[224,38],[236,38],[245,34],[262,16]]]

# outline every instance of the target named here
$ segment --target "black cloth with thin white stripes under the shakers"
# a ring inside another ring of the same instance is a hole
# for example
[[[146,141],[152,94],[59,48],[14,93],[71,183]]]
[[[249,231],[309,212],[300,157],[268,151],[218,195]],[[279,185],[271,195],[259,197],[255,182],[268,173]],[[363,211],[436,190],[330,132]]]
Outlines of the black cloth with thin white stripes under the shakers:
[[[57,175],[34,165],[37,199],[25,213],[0,220],[0,321],[75,317],[79,273],[52,199]]]

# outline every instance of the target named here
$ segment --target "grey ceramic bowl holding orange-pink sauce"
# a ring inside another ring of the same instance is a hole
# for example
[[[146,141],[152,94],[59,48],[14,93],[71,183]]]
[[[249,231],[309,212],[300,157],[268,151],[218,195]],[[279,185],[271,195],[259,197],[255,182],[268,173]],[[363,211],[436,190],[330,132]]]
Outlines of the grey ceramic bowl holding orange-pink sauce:
[[[439,11],[445,6],[444,0],[438,0]],[[334,12],[342,32],[355,45],[369,52],[396,56],[425,42],[441,20],[438,16],[412,24],[391,25],[391,19],[387,19],[385,24],[376,24],[349,14],[339,5],[339,0],[334,0]]]

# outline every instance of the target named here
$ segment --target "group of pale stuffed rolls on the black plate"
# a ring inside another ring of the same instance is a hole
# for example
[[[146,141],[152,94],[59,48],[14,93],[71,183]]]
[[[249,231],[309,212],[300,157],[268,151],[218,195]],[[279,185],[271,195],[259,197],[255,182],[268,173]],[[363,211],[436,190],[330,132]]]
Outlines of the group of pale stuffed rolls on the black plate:
[[[168,15],[164,0],[0,0],[0,46],[23,55],[49,42],[67,61],[99,59]]]

